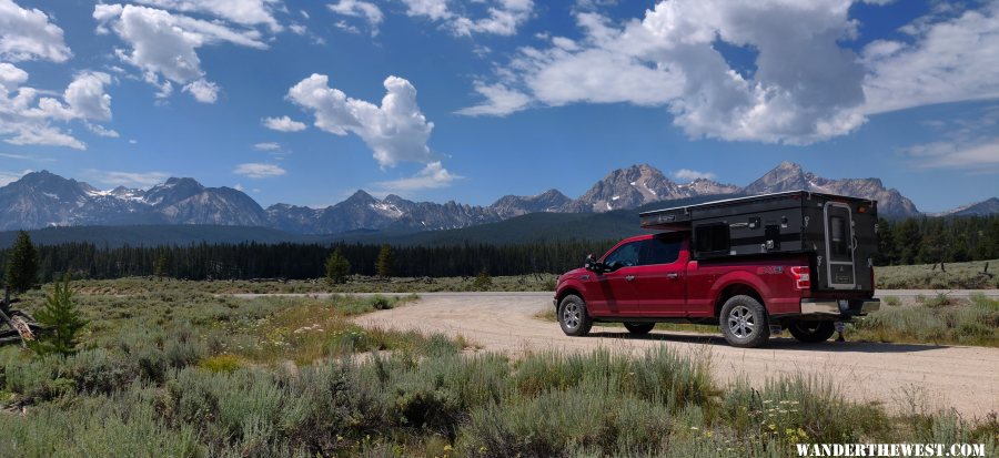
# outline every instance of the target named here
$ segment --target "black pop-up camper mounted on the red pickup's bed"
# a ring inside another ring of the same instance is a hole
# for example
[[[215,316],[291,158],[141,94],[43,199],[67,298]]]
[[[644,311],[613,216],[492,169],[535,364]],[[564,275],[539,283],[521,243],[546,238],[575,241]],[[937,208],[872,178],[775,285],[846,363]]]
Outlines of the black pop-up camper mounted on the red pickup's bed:
[[[807,253],[817,289],[872,291],[877,201],[790,191],[642,213],[643,228],[690,231],[695,259]]]

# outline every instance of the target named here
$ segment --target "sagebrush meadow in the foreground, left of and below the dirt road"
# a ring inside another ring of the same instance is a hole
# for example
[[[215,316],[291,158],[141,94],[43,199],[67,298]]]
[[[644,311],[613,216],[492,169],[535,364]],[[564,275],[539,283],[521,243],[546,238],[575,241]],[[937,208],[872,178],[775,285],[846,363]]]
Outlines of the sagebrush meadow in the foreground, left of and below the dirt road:
[[[805,377],[720,384],[667,346],[513,359],[474,337],[351,323],[415,296],[195,289],[78,295],[89,324],[74,355],[0,348],[0,456],[780,457],[856,441],[999,452],[995,414],[915,397],[889,413]]]

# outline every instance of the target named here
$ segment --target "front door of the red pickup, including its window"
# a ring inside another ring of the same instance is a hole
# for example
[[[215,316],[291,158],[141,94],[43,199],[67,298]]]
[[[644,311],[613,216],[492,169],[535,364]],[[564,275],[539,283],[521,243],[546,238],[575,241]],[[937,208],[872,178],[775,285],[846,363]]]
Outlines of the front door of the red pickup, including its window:
[[[613,269],[595,275],[594,284],[587,291],[597,289],[598,303],[589,305],[594,316],[633,316],[638,314],[637,272],[638,254],[644,241],[628,242],[617,246],[603,258]]]

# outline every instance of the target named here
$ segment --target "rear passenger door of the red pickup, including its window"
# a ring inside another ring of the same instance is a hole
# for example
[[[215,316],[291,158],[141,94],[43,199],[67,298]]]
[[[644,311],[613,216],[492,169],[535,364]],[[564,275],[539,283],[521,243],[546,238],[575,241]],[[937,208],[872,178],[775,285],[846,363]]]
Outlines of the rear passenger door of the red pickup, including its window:
[[[646,240],[639,255],[638,309],[642,316],[683,316],[686,306],[687,254],[675,234]]]

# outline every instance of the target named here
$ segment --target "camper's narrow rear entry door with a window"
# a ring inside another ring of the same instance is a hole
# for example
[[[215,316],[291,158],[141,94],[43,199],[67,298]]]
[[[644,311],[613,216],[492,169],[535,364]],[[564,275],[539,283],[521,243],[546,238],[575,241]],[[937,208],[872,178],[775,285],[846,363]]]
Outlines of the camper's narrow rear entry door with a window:
[[[829,287],[835,289],[852,289],[857,285],[854,266],[852,211],[842,202],[827,202],[826,218],[826,274]]]

